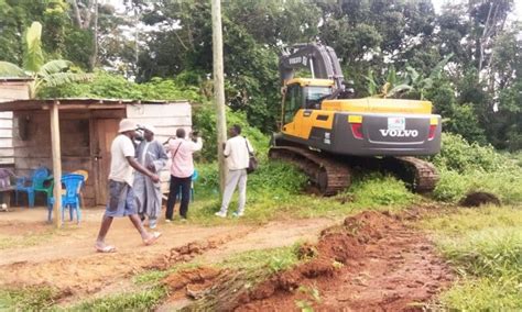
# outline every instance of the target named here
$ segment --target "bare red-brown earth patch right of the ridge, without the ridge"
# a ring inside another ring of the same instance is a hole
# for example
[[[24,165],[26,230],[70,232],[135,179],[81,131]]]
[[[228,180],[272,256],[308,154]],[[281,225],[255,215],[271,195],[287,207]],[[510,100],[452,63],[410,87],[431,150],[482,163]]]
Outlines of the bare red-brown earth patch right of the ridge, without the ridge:
[[[429,242],[394,218],[363,212],[323,231],[313,259],[239,296],[238,311],[414,310],[450,281]],[[313,252],[311,252],[313,250]],[[421,308],[420,308],[421,309]]]

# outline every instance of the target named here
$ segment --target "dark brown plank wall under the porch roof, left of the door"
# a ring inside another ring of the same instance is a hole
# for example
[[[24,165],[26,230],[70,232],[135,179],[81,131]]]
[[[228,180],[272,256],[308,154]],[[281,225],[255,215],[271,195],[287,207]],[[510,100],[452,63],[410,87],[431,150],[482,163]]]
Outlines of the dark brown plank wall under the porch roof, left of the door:
[[[14,113],[14,169],[18,176],[31,176],[34,168],[53,168],[51,157],[51,127],[48,111]],[[22,122],[20,122],[22,120]],[[26,120],[25,138],[20,137],[19,129]],[[84,190],[85,205],[95,203],[93,161],[90,157],[89,116],[87,114],[59,113],[59,135],[62,140],[62,171],[78,169],[90,175]],[[42,202],[37,203],[42,204]]]

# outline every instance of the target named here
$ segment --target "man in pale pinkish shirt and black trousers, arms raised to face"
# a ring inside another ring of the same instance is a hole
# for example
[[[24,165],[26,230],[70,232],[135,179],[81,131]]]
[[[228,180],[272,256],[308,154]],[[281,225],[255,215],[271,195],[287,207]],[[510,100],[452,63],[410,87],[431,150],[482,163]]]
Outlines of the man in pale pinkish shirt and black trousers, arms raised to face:
[[[191,134],[192,140],[185,140],[185,130],[176,130],[176,138],[170,140],[167,151],[171,153],[171,186],[168,200],[166,201],[166,222],[171,222],[174,214],[176,197],[182,190],[182,203],[180,205],[180,215],[182,221],[186,221],[188,212],[188,201],[191,200],[192,176],[194,175],[193,154],[202,149],[203,141],[199,136]]]

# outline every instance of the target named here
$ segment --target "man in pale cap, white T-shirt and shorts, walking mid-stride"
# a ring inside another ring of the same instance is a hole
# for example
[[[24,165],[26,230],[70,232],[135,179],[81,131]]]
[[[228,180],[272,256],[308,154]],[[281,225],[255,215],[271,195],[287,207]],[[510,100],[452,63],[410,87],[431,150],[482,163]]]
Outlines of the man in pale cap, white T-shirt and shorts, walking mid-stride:
[[[118,130],[118,136],[112,141],[110,147],[109,202],[107,203],[95,245],[96,250],[100,253],[116,252],[113,246],[106,244],[105,237],[109,232],[112,219],[118,216],[129,216],[134,227],[140,232],[145,245],[153,244],[161,236],[159,232],[146,232],[135,209],[134,192],[132,190],[132,168],[149,177],[153,182],[160,181],[155,174],[141,166],[134,159],[135,152],[132,138],[135,136],[135,129],[134,122],[128,119],[122,120]]]

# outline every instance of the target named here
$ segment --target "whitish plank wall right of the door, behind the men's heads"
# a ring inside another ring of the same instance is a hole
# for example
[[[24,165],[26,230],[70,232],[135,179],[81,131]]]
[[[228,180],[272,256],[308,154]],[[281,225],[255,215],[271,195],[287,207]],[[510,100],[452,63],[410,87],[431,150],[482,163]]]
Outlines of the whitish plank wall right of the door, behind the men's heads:
[[[155,140],[161,143],[175,136],[178,127],[184,127],[187,133],[192,130],[192,107],[188,102],[127,105],[127,118],[138,124],[153,125],[157,131]],[[168,161],[160,175],[164,193],[168,192],[170,167],[171,163]]]

